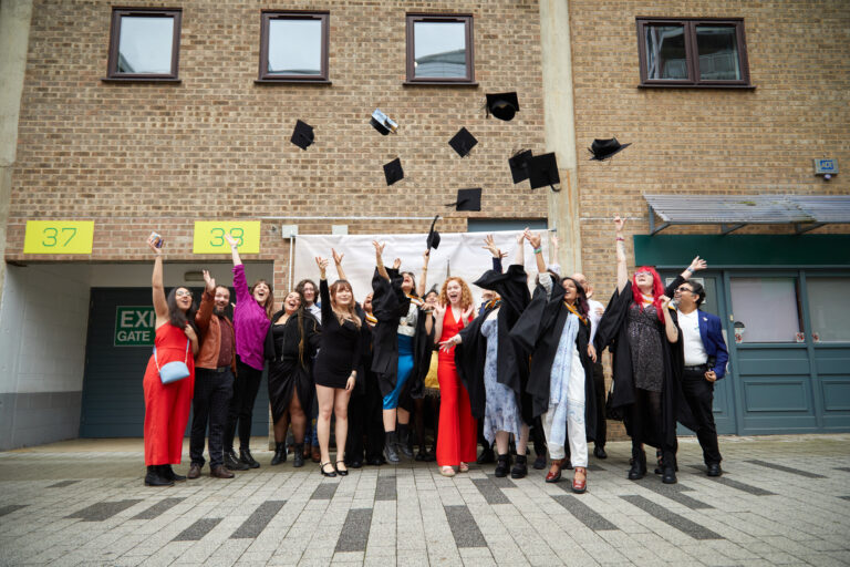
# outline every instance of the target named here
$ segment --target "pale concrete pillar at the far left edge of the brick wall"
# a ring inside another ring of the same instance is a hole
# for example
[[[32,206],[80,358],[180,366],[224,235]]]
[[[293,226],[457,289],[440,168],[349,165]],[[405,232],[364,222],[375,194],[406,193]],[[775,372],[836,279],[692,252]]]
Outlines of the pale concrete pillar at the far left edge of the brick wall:
[[[12,195],[32,0],[0,0],[0,302],[6,284],[6,234]]]

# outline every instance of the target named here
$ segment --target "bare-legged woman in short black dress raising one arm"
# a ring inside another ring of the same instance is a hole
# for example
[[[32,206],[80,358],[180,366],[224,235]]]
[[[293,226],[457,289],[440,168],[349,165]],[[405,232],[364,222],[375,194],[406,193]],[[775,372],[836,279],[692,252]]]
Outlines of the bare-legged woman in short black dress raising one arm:
[[[315,258],[319,266],[319,295],[322,307],[322,340],[313,365],[315,395],[319,402],[319,450],[320,472],[324,476],[349,474],[345,468],[345,437],[349,431],[349,399],[356,383],[357,367],[362,350],[361,324],[354,307],[351,284],[336,280],[329,288],[325,270],[328,260]],[[336,463],[331,462],[329,449],[331,436],[331,412],[336,417]],[[325,467],[331,465],[330,471]],[[342,466],[339,466],[342,465]]]

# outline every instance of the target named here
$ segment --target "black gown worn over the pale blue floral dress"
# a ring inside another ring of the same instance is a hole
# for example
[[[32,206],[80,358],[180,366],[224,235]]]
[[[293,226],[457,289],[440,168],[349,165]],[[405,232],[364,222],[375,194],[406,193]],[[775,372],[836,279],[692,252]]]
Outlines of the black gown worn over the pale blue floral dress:
[[[520,265],[511,265],[506,274],[487,270],[475,285],[496,291],[501,298],[501,307],[497,317],[498,344],[496,381],[514,390],[517,398],[517,406],[522,413],[522,419],[530,424],[531,415],[530,398],[524,395],[528,383],[528,357],[510,337],[510,330],[516,324],[522,311],[531,300],[528,291],[528,277]],[[464,386],[469,393],[473,417],[484,419],[487,405],[486,388],[484,385],[484,367],[487,355],[487,339],[481,334],[481,326],[495,308],[486,308],[483,313],[460,330],[463,342],[455,347],[455,365],[457,374],[463,380]],[[528,398],[526,400],[526,398]]]

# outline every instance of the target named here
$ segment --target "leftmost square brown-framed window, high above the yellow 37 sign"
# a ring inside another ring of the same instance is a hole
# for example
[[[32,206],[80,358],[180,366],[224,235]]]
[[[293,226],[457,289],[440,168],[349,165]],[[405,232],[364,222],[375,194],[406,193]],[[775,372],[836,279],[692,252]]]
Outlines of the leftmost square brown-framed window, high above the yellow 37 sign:
[[[182,11],[115,8],[106,80],[178,81]]]

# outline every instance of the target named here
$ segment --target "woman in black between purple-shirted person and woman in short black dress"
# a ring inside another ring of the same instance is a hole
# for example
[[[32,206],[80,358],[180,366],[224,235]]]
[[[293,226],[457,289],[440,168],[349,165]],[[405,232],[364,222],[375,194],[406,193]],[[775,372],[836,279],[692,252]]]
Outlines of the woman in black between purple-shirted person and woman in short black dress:
[[[304,308],[298,291],[290,291],[283,309],[271,318],[266,338],[269,363],[269,400],[274,422],[274,456],[272,465],[287,460],[287,430],[292,424],[293,466],[304,466],[304,432],[307,414],[313,403],[312,359],[319,349],[319,321]]]

